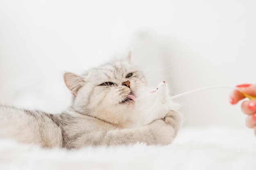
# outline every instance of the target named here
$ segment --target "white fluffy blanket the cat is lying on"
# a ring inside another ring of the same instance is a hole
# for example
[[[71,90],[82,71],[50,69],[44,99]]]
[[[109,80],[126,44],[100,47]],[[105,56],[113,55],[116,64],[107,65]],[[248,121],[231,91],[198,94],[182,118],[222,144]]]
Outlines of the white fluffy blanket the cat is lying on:
[[[255,170],[256,139],[249,129],[183,128],[168,146],[43,149],[0,140],[0,170]]]

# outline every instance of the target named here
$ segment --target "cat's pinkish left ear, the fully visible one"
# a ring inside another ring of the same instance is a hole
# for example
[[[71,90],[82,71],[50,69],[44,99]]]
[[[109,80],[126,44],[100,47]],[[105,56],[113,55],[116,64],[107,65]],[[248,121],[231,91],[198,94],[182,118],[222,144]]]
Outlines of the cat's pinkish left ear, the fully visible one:
[[[74,73],[65,73],[63,78],[67,88],[70,89],[74,96],[76,96],[77,91],[83,86],[83,83],[85,82],[83,77]]]

